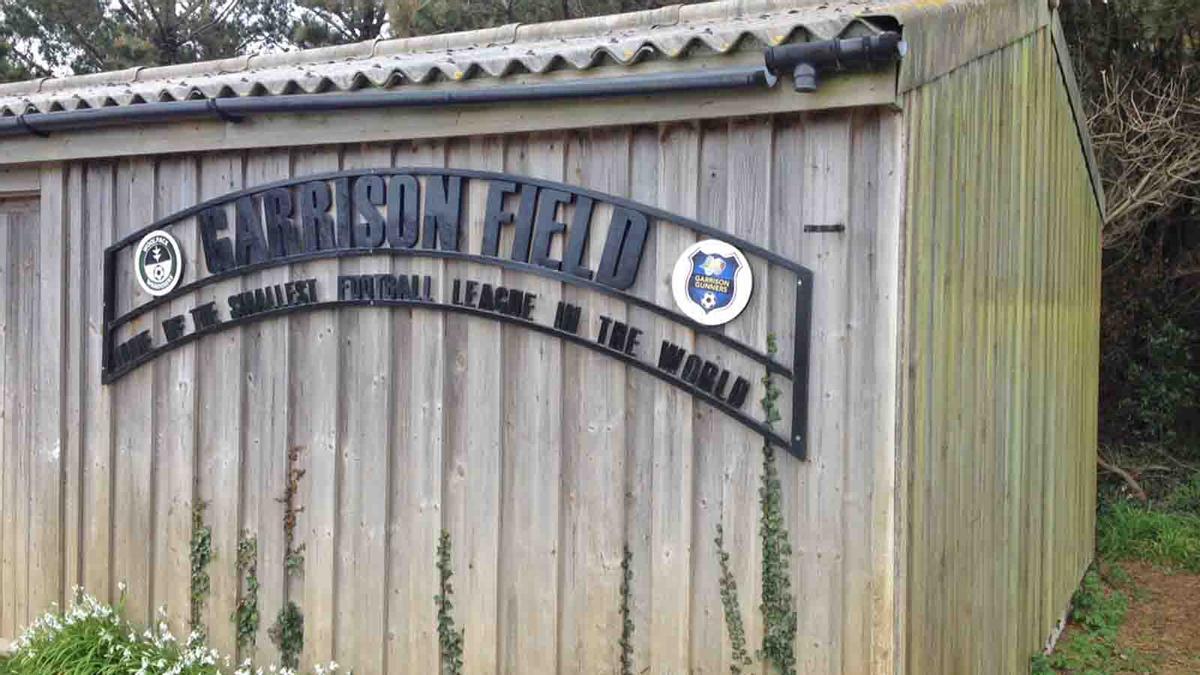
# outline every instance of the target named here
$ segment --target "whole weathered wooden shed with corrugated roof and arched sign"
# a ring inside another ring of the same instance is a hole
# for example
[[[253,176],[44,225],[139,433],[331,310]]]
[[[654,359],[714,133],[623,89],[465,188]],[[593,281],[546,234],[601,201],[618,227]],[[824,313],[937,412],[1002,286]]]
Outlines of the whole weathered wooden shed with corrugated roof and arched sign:
[[[0,86],[0,639],[80,585],[263,663],[290,604],[302,663],[367,675],[438,673],[439,610],[468,674],[766,674],[764,633],[805,674],[1026,670],[1093,550],[1055,5]]]

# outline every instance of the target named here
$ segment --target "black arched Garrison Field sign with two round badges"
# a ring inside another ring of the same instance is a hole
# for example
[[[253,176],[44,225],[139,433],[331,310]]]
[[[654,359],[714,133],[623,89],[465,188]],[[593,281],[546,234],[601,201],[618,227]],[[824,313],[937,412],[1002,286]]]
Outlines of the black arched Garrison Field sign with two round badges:
[[[468,195],[476,199],[468,202]],[[468,213],[468,203],[481,205],[480,213]],[[683,227],[704,239],[678,252],[673,306],[635,289],[644,274],[647,245],[655,228],[664,226]],[[169,245],[176,240],[182,245]],[[196,259],[185,259],[188,250]],[[630,321],[604,315],[584,321],[587,309],[578,300],[469,276],[335,270],[251,288],[236,283],[217,295],[223,282],[252,273],[346,257],[461,261],[556,280],[684,325],[737,359],[695,353],[670,340],[652,345],[646,327]],[[754,288],[751,261],[793,275],[790,368],[720,328],[746,306]],[[205,335],[292,312],[338,306],[436,310],[521,325],[601,352],[689,392],[804,458],[810,281],[806,268],[754,243],[560,183],[449,168],[302,177],[197,204],[106,249],[103,381],[114,382]],[[186,305],[187,298],[196,301]],[[737,371],[726,364],[733,360],[792,381],[788,436],[748,412],[754,407],[746,406],[751,383],[761,371]]]

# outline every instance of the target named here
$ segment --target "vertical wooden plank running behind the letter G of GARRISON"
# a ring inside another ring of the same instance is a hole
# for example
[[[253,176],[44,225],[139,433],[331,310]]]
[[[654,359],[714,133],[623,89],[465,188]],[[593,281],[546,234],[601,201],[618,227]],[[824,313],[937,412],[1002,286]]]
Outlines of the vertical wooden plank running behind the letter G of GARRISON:
[[[242,186],[242,157],[214,154],[200,157],[199,195],[204,201]],[[209,286],[197,293],[198,304],[216,303],[221,316],[226,297],[236,289]],[[230,615],[238,602],[239,509],[244,494],[241,398],[244,382],[242,331],[222,330],[197,344],[196,374],[196,498],[204,503],[204,521],[212,528],[212,565],[209,566],[211,593],[205,603],[204,623],[209,644],[222,653],[234,653],[236,633]],[[181,453],[181,461],[182,461]]]

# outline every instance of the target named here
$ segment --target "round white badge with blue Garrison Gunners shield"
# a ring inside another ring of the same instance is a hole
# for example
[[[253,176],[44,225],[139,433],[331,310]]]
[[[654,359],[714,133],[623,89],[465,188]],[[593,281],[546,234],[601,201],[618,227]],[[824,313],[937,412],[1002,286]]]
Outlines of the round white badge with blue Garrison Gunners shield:
[[[671,275],[676,305],[704,325],[728,323],[746,309],[754,291],[750,262],[725,241],[697,241],[679,256]]]

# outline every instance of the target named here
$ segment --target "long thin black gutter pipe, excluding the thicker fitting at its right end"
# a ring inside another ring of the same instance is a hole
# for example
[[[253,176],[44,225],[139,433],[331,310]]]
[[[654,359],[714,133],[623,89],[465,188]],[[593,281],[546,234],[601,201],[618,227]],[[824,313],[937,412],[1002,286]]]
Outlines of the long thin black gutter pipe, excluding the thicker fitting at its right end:
[[[138,103],[112,108],[88,108],[58,113],[26,113],[0,118],[0,138],[48,136],[98,126],[217,118],[240,121],[248,115],[269,113],[325,113],[380,108],[433,108],[520,101],[600,98],[678,94],[718,89],[770,88],[775,76],[762,66],[745,66],[689,73],[656,73],[630,77],[581,79],[548,84],[457,88],[444,90],[397,90],[366,94],[298,94],[287,96],[206,98]]]

